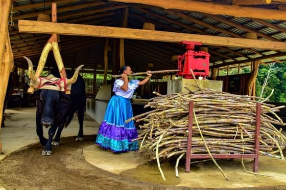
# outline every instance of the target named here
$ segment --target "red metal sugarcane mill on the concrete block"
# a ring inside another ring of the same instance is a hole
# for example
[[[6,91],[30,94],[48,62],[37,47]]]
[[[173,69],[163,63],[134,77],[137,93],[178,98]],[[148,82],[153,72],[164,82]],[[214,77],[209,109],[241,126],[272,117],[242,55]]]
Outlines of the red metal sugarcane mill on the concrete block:
[[[195,46],[201,46],[202,43],[195,41],[182,41],[187,51],[183,55],[178,55],[178,70],[177,75],[183,76],[183,78],[193,79],[193,75],[190,69],[193,70],[196,78],[203,77],[203,79],[209,74],[209,57],[210,55],[204,51],[194,51]]]

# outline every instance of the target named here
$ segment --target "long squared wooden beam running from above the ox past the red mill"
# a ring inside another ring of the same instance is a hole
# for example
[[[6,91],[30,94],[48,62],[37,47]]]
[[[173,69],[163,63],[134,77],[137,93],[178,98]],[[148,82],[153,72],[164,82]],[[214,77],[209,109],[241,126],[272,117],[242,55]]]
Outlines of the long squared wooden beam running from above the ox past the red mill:
[[[201,42],[203,45],[210,46],[216,45],[226,47],[286,50],[286,43],[255,39],[241,39],[105,26],[51,23],[32,20],[19,20],[18,26],[19,32],[29,33],[58,33],[61,35],[128,38],[152,41],[166,41],[171,43],[179,43],[180,41],[198,41]]]

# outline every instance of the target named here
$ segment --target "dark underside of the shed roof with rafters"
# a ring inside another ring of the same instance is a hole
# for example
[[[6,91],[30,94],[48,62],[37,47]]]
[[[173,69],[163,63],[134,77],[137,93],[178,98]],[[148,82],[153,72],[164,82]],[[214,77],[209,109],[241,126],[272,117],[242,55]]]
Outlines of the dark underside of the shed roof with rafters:
[[[19,33],[18,19],[37,20],[39,13],[51,14],[51,2],[57,3],[57,22],[97,26],[121,27],[125,8],[129,7],[128,28],[142,29],[144,23],[155,24],[158,31],[170,31],[190,34],[203,34],[223,37],[245,38],[246,33],[255,32],[257,39],[281,41],[286,40],[286,22],[283,20],[252,19],[228,15],[210,15],[201,12],[165,10],[141,4],[125,4],[106,1],[44,1],[44,0],[14,0],[13,22],[9,26],[10,40],[14,53],[14,64],[27,67],[22,56],[32,59],[34,65],[39,60],[41,51],[50,34]],[[231,1],[200,1],[219,4],[229,4]],[[286,1],[272,1],[269,5],[256,5],[264,9],[286,9]],[[183,17],[175,15],[181,13]],[[85,69],[104,68],[105,38],[88,36],[60,36],[60,50],[66,68],[75,68],[81,64]],[[112,40],[109,41],[112,46]],[[279,51],[245,49],[240,47],[207,46],[210,66],[233,62],[229,68],[249,66],[250,62],[243,61],[260,56],[267,56]],[[185,49],[178,44],[158,41],[125,40],[125,62],[133,70],[146,70],[153,63],[152,70],[176,69],[173,55],[183,54]],[[283,62],[285,54],[278,57],[262,59],[262,62]],[[50,53],[46,66],[54,62]],[[237,64],[236,64],[237,62]],[[238,64],[240,63],[240,64]],[[110,64],[111,65],[111,64]],[[134,69],[135,68],[135,69]],[[112,69],[111,66],[109,69]]]

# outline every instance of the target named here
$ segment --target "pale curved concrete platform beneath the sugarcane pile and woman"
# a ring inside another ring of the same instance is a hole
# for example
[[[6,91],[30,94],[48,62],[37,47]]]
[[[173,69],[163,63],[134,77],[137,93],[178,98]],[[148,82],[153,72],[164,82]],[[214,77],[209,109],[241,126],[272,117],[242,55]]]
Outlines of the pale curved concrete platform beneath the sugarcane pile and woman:
[[[147,163],[141,160],[136,152],[114,154],[97,145],[90,145],[83,150],[86,161],[102,170],[152,183],[202,187],[202,188],[243,188],[267,187],[286,184],[286,161],[259,156],[259,176],[244,171],[240,159],[218,160],[218,164],[230,179],[227,181],[219,169],[210,161],[192,164],[190,173],[184,172],[184,160],[179,164],[179,175],[175,176],[174,163],[161,165],[166,181],[163,181],[157,163]],[[244,159],[247,170],[252,171],[253,161]]]

